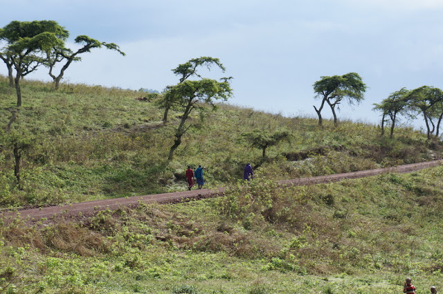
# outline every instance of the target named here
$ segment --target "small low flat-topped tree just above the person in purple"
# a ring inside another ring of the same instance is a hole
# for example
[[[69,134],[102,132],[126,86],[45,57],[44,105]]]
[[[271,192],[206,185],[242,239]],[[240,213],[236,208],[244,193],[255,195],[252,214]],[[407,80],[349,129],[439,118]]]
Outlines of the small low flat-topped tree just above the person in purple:
[[[287,130],[278,130],[270,133],[261,129],[255,129],[242,134],[242,137],[254,147],[262,149],[262,157],[266,156],[266,149],[278,145],[282,140],[290,140],[291,134]]]

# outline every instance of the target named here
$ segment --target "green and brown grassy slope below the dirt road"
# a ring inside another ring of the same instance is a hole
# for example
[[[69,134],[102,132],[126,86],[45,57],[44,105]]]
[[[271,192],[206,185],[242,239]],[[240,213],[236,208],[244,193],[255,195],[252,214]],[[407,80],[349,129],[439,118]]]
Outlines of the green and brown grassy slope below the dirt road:
[[[441,289],[443,167],[1,226],[4,293]],[[9,284],[10,283],[10,284]]]

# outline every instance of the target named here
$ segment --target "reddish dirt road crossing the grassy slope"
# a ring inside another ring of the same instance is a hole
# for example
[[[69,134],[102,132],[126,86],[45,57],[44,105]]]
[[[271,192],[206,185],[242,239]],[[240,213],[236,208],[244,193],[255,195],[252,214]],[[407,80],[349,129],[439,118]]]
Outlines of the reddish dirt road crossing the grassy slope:
[[[375,176],[382,173],[408,173],[429,167],[442,165],[443,160],[434,160],[426,163],[413,163],[410,165],[400,165],[398,167],[387,167],[379,169],[369,169],[360,172],[350,172],[346,174],[332,174],[329,176],[314,176],[311,178],[295,178],[292,180],[278,181],[280,185],[315,185],[319,183],[330,183],[352,178],[364,178],[366,176]],[[143,196],[132,196],[127,198],[104,199],[87,201],[80,203],[71,203],[65,205],[49,206],[46,208],[32,208],[26,210],[17,210],[17,212],[1,212],[0,217],[3,219],[12,219],[21,217],[37,221],[42,218],[53,219],[58,217],[75,217],[79,214],[86,216],[97,212],[98,210],[111,209],[115,210],[121,206],[137,205],[143,203],[174,203],[186,199],[202,199],[218,196],[223,194],[225,187],[219,187],[215,190],[192,190],[186,192],[163,193]]]

